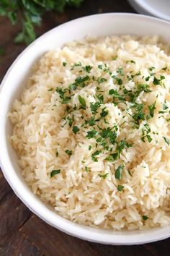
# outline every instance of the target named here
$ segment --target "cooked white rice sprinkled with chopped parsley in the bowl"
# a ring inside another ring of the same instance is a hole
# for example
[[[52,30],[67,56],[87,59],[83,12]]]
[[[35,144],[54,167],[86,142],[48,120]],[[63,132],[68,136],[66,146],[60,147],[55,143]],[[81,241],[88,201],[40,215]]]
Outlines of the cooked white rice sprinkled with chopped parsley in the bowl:
[[[32,192],[63,218],[114,230],[170,223],[168,51],[158,36],[86,38],[35,65],[10,140]]]

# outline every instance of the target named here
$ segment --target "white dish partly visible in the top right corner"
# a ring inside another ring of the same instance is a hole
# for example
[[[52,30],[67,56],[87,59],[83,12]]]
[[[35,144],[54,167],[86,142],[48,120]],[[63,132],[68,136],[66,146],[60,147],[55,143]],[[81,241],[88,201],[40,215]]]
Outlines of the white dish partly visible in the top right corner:
[[[136,12],[170,21],[169,0],[128,0]]]

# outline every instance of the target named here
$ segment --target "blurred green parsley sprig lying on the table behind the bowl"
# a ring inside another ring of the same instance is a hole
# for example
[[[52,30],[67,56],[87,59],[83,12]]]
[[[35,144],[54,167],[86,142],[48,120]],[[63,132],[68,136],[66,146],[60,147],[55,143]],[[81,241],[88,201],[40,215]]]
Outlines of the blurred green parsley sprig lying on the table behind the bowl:
[[[15,25],[22,23],[22,31],[15,43],[29,44],[36,38],[35,25],[40,25],[42,15],[48,11],[63,12],[66,5],[79,7],[83,0],[1,0],[0,16],[6,16]]]

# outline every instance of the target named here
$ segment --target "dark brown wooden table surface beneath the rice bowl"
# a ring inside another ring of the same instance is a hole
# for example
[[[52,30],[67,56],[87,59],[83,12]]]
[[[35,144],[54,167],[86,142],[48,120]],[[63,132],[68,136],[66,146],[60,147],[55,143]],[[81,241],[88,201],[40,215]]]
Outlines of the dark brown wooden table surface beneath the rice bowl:
[[[84,0],[78,10],[69,8],[63,14],[46,14],[42,26],[37,28],[37,35],[76,17],[101,12],[135,11],[125,0]],[[6,18],[0,17],[0,46],[5,48],[0,59],[0,80],[25,48],[24,44],[13,43],[18,31],[19,25],[13,27]],[[166,256],[170,255],[169,251],[170,239],[125,247],[95,244],[68,236],[31,213],[14,195],[0,170],[0,256]]]

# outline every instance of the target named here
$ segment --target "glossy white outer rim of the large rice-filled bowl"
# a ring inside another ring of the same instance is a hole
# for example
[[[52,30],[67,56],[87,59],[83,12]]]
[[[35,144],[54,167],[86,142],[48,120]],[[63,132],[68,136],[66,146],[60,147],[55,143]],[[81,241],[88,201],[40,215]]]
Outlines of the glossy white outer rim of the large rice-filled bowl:
[[[30,48],[33,48],[35,46],[35,43],[39,42],[47,34],[53,33],[54,30],[61,29],[63,27],[68,26],[69,24],[73,24],[73,22],[79,22],[79,21],[85,21],[86,19],[96,19],[98,17],[102,16],[117,16],[117,17],[136,17],[140,19],[146,19],[146,20],[153,20],[155,22],[161,22],[164,24],[168,24],[170,26],[170,23],[164,20],[160,20],[155,17],[149,17],[146,15],[141,14],[131,14],[131,13],[104,13],[104,14],[94,14],[89,15],[85,17],[80,17],[75,20],[68,21],[66,23],[63,23],[62,25],[59,25],[57,27],[54,27],[52,30],[49,30],[48,32],[44,33],[40,36],[40,38],[37,38],[33,43],[30,44],[27,48],[22,51],[21,54],[17,57],[17,59],[13,62],[12,66],[9,68],[9,70],[6,72],[6,75],[4,76],[4,79],[1,82],[1,89],[0,89],[0,102],[2,99],[2,89],[6,85],[7,77],[9,77],[10,72],[12,71],[15,64],[20,60],[20,58],[28,51]],[[0,116],[3,116],[3,111],[1,111],[3,107],[0,107]],[[6,116],[4,116],[4,119],[6,119]],[[1,140],[1,149],[4,148],[7,152],[7,143],[5,140],[5,125],[3,126],[3,121],[0,122],[0,140]],[[5,121],[4,121],[5,124]],[[2,150],[1,150],[2,152]],[[17,176],[16,171],[12,167],[12,161],[9,160],[9,155],[7,155],[6,158],[0,153],[0,165],[1,170],[4,173],[5,179],[10,184],[12,189],[14,190],[17,197],[19,197],[22,202],[24,202],[24,205],[27,205],[27,207],[35,213],[36,216],[41,218],[46,223],[50,224],[50,226],[53,226],[66,234],[70,234],[72,236],[76,236],[80,239],[84,239],[90,242],[99,242],[101,244],[112,244],[112,245],[130,245],[130,244],[144,244],[148,242],[155,242],[157,240],[166,239],[170,236],[170,226],[166,226],[164,228],[159,229],[149,229],[148,231],[138,231],[138,234],[133,234],[131,231],[128,231],[128,235],[125,234],[125,232],[122,231],[113,231],[110,234],[104,234],[104,230],[102,229],[94,229],[87,226],[83,226],[80,224],[73,223],[71,221],[66,220],[65,218],[59,216],[56,213],[53,213],[52,210],[48,209],[47,206],[43,202],[40,202],[37,200],[36,196],[27,189],[26,184],[22,182],[19,177]],[[9,173],[8,170],[12,170],[12,174]],[[16,186],[17,184],[17,186]],[[36,203],[35,203],[36,202]],[[164,231],[163,231],[164,229]],[[153,235],[154,234],[154,235]],[[153,235],[153,236],[152,236]]]

